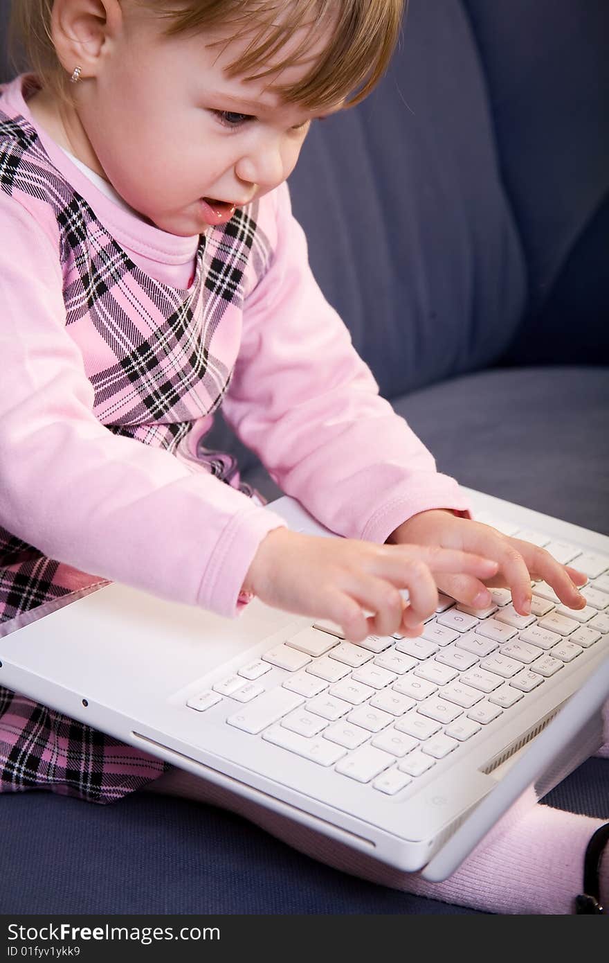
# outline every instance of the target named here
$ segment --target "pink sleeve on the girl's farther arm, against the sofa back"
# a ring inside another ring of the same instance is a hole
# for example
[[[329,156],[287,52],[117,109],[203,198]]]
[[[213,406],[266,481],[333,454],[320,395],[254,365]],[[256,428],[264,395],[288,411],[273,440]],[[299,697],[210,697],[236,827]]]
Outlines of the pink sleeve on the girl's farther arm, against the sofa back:
[[[323,297],[287,184],[273,261],[246,299],[227,422],[274,481],[333,532],[382,542],[427,508],[471,518],[457,481],[391,404]],[[370,318],[370,324],[374,319]]]

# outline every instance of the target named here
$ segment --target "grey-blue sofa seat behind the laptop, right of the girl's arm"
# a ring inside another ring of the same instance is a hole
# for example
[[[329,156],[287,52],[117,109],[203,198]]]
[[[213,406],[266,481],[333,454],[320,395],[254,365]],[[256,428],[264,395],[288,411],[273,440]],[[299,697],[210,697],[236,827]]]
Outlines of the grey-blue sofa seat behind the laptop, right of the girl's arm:
[[[461,484],[609,534],[609,369],[514,368],[393,402]]]

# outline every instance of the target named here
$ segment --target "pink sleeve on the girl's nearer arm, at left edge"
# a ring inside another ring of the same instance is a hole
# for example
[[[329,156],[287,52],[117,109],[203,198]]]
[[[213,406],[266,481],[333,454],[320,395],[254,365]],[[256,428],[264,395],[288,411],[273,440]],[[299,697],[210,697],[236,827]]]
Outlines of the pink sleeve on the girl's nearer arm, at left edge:
[[[0,195],[0,237],[0,526],[84,572],[236,614],[283,519],[98,422],[51,227]]]

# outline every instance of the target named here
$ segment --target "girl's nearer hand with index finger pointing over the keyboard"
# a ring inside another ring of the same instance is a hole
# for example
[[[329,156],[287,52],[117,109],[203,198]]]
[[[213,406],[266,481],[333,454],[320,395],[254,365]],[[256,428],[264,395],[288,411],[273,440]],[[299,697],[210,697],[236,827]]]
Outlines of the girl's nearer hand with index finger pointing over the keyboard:
[[[432,572],[467,572],[473,581],[497,571],[495,561],[469,552],[422,545],[376,545],[279,528],[269,532],[243,589],[285,612],[327,618],[345,638],[361,642],[393,632],[419,636],[438,606]],[[400,595],[407,588],[410,604]],[[374,612],[367,617],[364,610]]]

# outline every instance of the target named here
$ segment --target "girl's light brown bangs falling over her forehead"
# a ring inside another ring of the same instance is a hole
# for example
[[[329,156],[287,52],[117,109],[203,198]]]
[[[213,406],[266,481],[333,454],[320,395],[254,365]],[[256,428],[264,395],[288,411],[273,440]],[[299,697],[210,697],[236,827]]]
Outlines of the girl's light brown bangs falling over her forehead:
[[[335,106],[349,95],[344,106],[353,107],[368,95],[391,60],[403,6],[403,0],[199,0],[180,12],[165,7],[162,15],[173,21],[167,36],[206,25],[229,26],[231,40],[251,36],[239,59],[227,66],[229,77],[259,80],[311,63],[297,84],[272,87],[286,101],[315,110]],[[294,48],[291,41],[299,31],[303,39]],[[319,49],[324,31],[328,42]],[[282,58],[285,46],[289,53]]]

